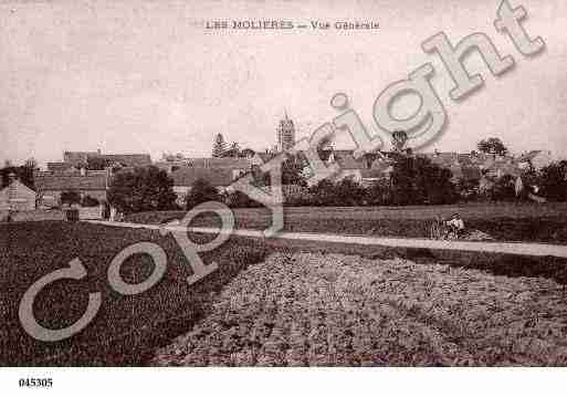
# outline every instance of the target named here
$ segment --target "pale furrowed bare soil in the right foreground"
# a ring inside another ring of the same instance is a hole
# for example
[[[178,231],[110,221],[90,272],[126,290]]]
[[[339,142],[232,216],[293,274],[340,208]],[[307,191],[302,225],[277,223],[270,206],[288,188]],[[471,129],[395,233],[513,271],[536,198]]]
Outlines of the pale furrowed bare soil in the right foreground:
[[[559,366],[567,297],[543,278],[274,252],[242,270],[153,365]]]

